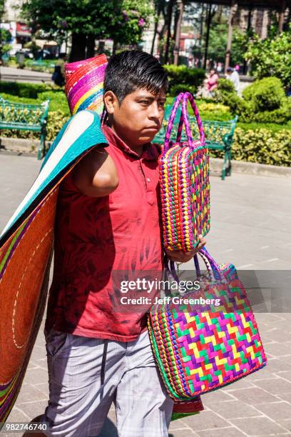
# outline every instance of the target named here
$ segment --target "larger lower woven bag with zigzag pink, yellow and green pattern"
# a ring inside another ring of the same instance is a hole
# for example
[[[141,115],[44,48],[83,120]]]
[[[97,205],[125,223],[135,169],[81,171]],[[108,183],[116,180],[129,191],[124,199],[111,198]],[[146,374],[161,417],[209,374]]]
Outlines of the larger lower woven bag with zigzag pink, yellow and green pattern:
[[[267,363],[260,334],[244,286],[233,264],[220,264],[205,248],[200,249],[208,269],[201,276],[195,266],[206,304],[181,303],[150,308],[148,331],[155,361],[169,395],[185,401],[233,383]],[[220,299],[214,308],[211,299]]]

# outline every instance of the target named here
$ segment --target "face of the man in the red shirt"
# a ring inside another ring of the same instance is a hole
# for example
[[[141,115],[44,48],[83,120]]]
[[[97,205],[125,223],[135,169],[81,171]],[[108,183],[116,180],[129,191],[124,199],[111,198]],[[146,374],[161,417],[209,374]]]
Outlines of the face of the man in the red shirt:
[[[111,112],[108,111],[112,115],[112,128],[128,146],[146,144],[160,130],[165,113],[164,106],[164,91],[154,95],[145,89],[137,89],[128,94],[121,105],[115,97]],[[106,107],[108,109],[107,104]]]

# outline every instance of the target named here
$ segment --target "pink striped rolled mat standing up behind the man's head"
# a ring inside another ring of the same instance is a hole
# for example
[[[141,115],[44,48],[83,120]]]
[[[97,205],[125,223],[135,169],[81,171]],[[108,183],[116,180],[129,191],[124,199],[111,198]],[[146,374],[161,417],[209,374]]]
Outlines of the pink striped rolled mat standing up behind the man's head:
[[[105,54],[65,65],[65,92],[71,114],[91,109],[103,110],[103,81],[107,66]]]

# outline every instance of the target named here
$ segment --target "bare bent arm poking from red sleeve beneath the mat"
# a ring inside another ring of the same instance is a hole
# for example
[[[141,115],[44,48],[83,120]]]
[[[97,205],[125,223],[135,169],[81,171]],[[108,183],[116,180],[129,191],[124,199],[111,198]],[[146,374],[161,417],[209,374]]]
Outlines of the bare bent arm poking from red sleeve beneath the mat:
[[[73,169],[73,182],[86,196],[108,196],[118,186],[113,159],[103,147],[96,146]]]

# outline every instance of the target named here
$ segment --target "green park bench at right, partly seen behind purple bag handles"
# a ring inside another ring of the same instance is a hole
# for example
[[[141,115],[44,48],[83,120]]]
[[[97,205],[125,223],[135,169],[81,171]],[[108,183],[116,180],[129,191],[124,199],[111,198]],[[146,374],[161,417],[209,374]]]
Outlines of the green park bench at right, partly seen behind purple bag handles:
[[[153,142],[158,144],[163,144],[165,140],[165,131],[168,125],[168,118],[170,116],[171,107],[165,108],[165,119],[163,121],[163,126],[158,132],[158,134],[153,139]],[[196,138],[198,136],[198,127],[195,116],[188,116],[190,121],[191,130],[193,131],[193,136]],[[178,130],[178,124],[180,119],[180,111],[175,117],[175,122],[173,125],[173,130],[170,139],[175,141],[175,135]],[[223,153],[223,170],[221,174],[221,179],[225,179],[225,176],[230,176],[231,174],[231,147],[233,145],[233,134],[235,133],[235,126],[238,121],[238,116],[235,116],[233,120],[229,121],[215,121],[215,120],[202,120],[203,129],[205,132],[205,143],[209,150],[220,150]],[[185,130],[182,131],[182,141],[187,141]]]

